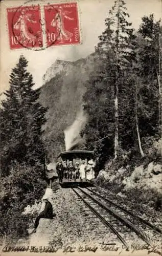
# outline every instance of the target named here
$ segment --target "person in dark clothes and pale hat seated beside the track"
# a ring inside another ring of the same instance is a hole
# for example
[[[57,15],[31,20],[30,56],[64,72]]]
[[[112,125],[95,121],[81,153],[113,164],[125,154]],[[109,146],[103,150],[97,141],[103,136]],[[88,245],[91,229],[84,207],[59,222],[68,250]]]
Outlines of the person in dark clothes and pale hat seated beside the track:
[[[34,223],[34,229],[33,229],[32,233],[36,232],[36,229],[39,225],[39,220],[41,218],[52,220],[56,216],[56,214],[53,214],[53,207],[52,207],[52,204],[49,202],[48,198],[43,197],[42,201],[45,202],[45,207],[44,207],[44,210],[42,212],[40,212],[40,214],[37,216],[35,223]]]

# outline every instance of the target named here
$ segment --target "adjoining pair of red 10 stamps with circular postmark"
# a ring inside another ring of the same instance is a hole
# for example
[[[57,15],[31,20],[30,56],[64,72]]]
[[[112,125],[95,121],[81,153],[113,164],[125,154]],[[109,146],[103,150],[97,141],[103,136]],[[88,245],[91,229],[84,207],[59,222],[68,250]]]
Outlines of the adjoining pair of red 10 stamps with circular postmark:
[[[10,49],[80,44],[76,2],[7,8],[7,19]]]

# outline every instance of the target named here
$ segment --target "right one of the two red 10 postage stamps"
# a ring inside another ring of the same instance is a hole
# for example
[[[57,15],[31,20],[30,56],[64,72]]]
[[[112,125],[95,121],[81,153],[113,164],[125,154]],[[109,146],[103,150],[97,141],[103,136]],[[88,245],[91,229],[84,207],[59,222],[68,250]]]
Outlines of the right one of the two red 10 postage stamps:
[[[80,43],[77,3],[44,6],[47,46]]]

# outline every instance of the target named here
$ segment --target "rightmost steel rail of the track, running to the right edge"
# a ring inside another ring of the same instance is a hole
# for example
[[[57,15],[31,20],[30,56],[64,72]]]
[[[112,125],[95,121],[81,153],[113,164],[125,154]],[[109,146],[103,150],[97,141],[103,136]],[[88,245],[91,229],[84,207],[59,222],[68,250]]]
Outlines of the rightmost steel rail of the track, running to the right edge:
[[[141,222],[143,222],[145,225],[147,225],[148,227],[151,227],[152,229],[156,230],[157,232],[159,233],[162,233],[162,230],[158,227],[155,227],[154,225],[152,225],[151,223],[149,223],[148,221],[142,219],[141,217],[138,217],[136,216],[135,214],[132,214],[132,212],[124,209],[122,206],[118,205],[118,204],[115,204],[113,203],[111,200],[107,199],[107,198],[104,198],[103,196],[101,196],[100,194],[96,193],[95,191],[89,189],[86,187],[86,189],[88,189],[90,192],[94,193],[94,195],[102,198],[104,201],[108,202],[108,203],[111,203],[112,205],[114,205],[115,207],[121,209],[122,211],[124,211],[126,214],[129,214],[131,217],[137,219],[137,220],[140,220]]]

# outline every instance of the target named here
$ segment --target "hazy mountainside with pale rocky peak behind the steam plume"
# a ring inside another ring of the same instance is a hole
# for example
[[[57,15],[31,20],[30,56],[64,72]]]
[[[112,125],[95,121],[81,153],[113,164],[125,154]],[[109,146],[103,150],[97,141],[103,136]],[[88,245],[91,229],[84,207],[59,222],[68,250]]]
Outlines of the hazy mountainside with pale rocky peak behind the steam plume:
[[[77,61],[56,60],[43,76],[40,102],[49,108],[44,138],[49,141],[47,147],[50,160],[65,150],[63,132],[74,123],[78,115],[81,116],[79,113],[86,90],[85,82],[94,69],[94,58],[95,53]]]

